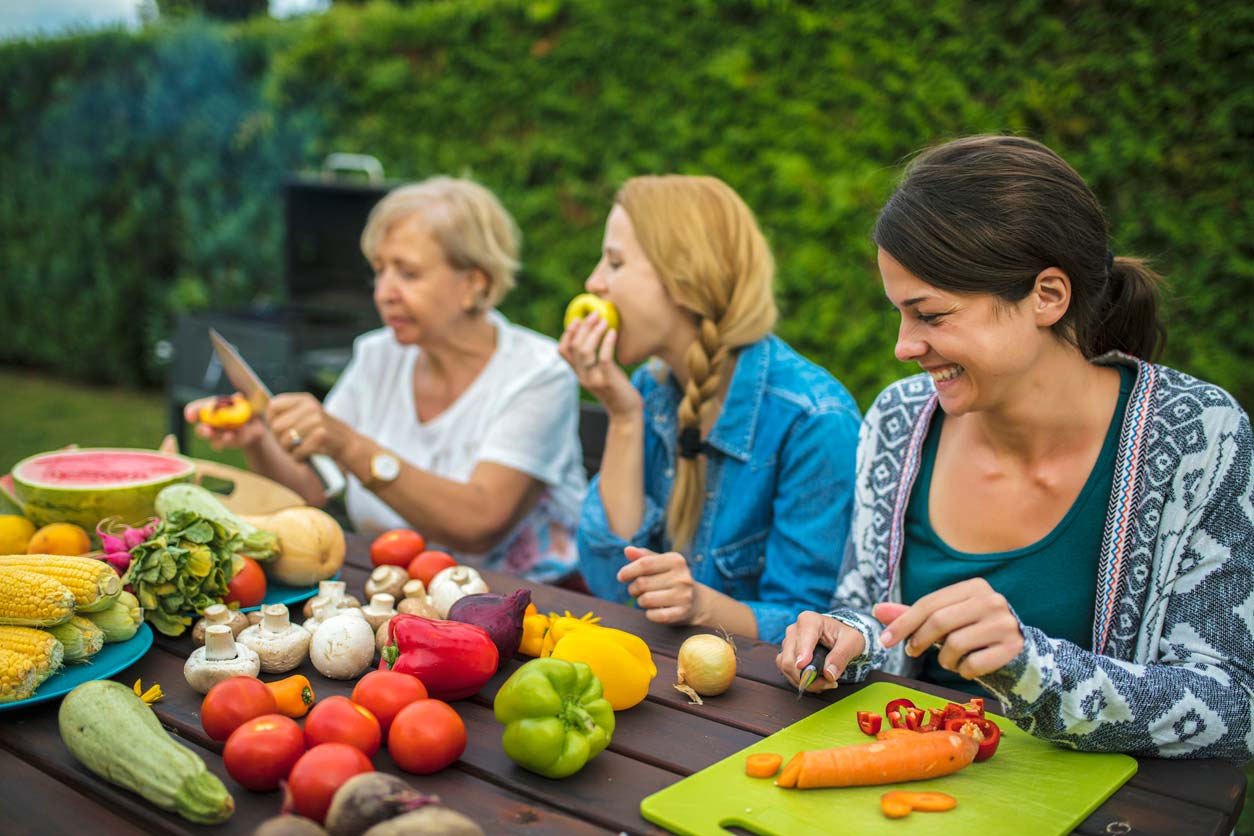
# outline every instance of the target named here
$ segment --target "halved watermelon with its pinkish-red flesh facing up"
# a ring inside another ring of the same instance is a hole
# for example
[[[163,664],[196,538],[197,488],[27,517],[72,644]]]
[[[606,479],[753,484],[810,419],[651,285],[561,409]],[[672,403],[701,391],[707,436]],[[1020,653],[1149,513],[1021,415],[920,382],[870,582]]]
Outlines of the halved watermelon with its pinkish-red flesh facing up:
[[[150,518],[157,494],[194,473],[187,459],[153,450],[56,450],[14,465],[13,488],[35,525],[64,520],[90,531],[107,516]]]

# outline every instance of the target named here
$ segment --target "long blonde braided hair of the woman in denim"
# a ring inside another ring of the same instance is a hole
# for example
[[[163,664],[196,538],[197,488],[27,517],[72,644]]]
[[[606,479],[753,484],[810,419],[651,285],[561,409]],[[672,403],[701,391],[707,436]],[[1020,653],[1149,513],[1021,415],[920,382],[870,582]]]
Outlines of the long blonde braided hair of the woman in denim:
[[[631,218],[645,256],[671,298],[692,311],[697,338],[687,352],[688,382],[678,407],[680,432],[701,431],[735,348],[775,326],[775,259],[740,196],[714,177],[633,177],[614,197]],[[705,459],[680,457],[666,529],[687,546],[701,520]]]

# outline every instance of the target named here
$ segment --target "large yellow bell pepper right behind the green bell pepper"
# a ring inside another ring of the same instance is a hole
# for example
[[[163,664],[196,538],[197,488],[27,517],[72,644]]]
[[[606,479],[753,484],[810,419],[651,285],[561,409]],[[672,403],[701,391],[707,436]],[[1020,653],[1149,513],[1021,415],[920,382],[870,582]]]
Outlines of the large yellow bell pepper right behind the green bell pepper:
[[[648,683],[657,676],[653,656],[643,639],[596,624],[568,629],[554,644],[552,657],[583,662],[592,668],[614,711],[624,711],[645,699]]]

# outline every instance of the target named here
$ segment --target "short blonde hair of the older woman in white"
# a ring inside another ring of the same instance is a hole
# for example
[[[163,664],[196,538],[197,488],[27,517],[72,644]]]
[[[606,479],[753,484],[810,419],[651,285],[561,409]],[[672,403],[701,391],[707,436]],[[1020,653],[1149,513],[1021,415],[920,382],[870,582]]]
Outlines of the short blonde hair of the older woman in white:
[[[497,196],[474,180],[431,177],[399,185],[370,211],[361,231],[361,252],[374,261],[387,232],[421,216],[454,269],[479,269],[488,277],[484,307],[498,305],[514,287],[522,236]]]

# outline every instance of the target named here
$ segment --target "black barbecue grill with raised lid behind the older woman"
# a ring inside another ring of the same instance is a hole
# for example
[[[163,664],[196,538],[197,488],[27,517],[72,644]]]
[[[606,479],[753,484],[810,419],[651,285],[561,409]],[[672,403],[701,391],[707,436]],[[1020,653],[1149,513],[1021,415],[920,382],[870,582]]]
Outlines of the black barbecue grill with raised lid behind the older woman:
[[[395,185],[384,179],[379,160],[364,154],[331,154],[319,174],[283,182],[286,302],[198,311],[174,326],[167,392],[169,427],[181,447],[183,405],[232,391],[209,346],[211,327],[240,348],[271,391],[326,395],[349,362],[354,337],[379,327],[370,267],[357,242],[370,209]]]

